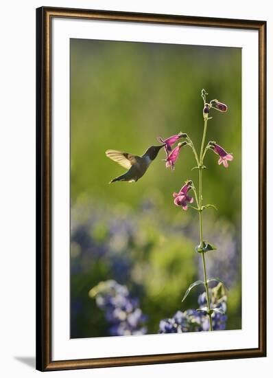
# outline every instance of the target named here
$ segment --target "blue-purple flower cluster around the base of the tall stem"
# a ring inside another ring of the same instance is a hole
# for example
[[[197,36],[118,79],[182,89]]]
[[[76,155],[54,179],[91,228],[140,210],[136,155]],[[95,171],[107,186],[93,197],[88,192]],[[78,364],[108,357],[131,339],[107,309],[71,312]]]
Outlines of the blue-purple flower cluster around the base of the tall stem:
[[[227,298],[223,293],[219,294],[222,287],[214,287],[210,290],[211,308],[226,311]],[[198,297],[200,307],[206,306],[206,292]],[[224,313],[213,312],[211,316],[213,322],[213,331],[222,331],[226,329],[227,315]],[[209,331],[209,319],[204,311],[187,310],[177,311],[173,318],[163,319],[159,323],[158,333],[183,333]]]

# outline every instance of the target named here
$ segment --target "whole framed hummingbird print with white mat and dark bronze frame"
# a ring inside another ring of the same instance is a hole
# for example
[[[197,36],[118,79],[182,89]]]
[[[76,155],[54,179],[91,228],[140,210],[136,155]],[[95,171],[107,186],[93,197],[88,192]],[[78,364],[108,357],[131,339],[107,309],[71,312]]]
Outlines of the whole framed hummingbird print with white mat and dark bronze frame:
[[[36,25],[37,369],[265,356],[265,21]]]

